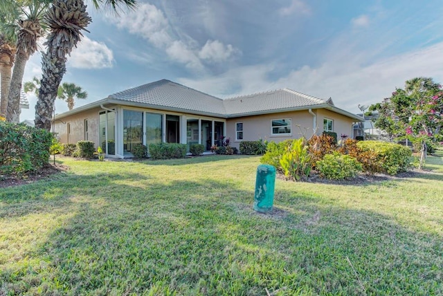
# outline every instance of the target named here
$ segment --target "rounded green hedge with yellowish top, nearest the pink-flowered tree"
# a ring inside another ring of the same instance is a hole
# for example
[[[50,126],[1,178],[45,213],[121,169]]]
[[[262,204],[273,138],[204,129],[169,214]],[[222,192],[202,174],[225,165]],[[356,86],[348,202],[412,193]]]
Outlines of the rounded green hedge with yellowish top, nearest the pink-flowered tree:
[[[409,147],[380,141],[360,141],[357,147],[362,151],[372,151],[377,161],[381,163],[383,173],[395,175],[405,172],[409,167],[412,155]]]

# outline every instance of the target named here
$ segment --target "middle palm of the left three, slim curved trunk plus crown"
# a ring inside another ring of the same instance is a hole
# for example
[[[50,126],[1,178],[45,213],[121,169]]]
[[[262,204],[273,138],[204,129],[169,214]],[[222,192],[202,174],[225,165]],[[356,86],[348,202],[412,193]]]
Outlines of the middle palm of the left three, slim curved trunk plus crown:
[[[37,50],[37,39],[43,35],[42,20],[50,0],[2,0],[0,9],[3,13],[16,11],[17,53],[8,93],[6,120],[19,122],[20,91],[26,62]]]

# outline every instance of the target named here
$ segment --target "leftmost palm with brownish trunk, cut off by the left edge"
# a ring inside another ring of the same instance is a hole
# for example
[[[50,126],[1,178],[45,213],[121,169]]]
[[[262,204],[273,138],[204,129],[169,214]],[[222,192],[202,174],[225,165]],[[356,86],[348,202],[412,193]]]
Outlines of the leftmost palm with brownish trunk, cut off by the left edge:
[[[0,35],[0,115],[3,117],[6,117],[6,108],[8,108],[8,93],[15,56],[14,44],[15,42],[8,41],[5,35]]]

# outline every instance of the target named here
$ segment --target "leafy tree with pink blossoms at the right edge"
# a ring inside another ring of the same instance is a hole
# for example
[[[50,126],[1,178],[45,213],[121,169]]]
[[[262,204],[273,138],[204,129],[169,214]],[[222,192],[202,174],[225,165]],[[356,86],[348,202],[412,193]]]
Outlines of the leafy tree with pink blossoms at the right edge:
[[[374,104],[377,111],[375,126],[394,138],[408,138],[422,147],[419,169],[426,158],[426,145],[443,138],[443,91],[432,78],[417,77],[408,80],[404,89],[396,89],[390,98]]]

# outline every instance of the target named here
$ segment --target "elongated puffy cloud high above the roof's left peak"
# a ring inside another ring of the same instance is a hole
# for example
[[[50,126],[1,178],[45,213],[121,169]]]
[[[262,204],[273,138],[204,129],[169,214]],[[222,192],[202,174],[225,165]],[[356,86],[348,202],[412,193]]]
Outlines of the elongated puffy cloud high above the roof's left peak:
[[[118,19],[108,20],[113,21],[118,28],[150,41],[156,48],[164,50],[170,59],[195,70],[204,68],[202,61],[225,62],[239,53],[231,44],[225,45],[219,40],[208,40],[200,48],[197,41],[180,34],[179,28],[172,30],[163,12],[150,3],[141,3],[136,10],[129,10]]]

